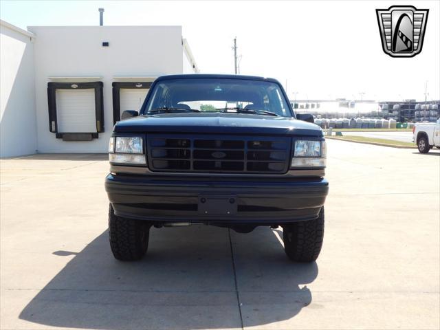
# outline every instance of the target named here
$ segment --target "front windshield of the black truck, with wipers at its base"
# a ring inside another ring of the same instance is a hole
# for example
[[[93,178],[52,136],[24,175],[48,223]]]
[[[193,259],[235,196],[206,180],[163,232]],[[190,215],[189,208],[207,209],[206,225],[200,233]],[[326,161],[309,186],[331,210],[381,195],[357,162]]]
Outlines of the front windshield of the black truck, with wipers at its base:
[[[270,111],[276,115],[292,117],[278,84],[245,79],[162,80],[155,85],[144,113],[155,112],[157,109],[240,113]]]

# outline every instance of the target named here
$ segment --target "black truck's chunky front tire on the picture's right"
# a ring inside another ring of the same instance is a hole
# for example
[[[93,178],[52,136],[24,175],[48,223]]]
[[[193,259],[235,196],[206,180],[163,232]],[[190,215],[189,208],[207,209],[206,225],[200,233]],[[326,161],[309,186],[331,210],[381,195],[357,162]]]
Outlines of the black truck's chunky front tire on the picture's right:
[[[315,220],[283,225],[284,250],[292,261],[311,263],[321,252],[324,239],[324,207]]]

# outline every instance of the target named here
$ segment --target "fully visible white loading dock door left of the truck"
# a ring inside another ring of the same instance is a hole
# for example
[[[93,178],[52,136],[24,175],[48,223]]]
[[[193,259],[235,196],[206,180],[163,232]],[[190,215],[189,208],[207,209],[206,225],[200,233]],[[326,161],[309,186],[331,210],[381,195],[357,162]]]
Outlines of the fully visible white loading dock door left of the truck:
[[[95,89],[56,89],[59,133],[96,132]]]

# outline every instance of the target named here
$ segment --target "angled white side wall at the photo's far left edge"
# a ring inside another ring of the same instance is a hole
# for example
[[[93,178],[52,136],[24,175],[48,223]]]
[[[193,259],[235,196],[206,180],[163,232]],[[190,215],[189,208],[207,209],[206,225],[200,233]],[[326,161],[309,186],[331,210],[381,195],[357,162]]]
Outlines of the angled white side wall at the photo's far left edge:
[[[0,22],[0,157],[27,155],[36,150],[31,36]]]

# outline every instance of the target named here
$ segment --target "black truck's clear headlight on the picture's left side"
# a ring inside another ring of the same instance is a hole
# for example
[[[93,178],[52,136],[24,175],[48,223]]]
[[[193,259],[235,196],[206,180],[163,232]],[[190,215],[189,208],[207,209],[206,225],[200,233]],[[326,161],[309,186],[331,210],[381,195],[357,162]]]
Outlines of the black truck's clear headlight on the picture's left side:
[[[111,137],[109,142],[109,161],[113,164],[146,165],[144,140],[139,136]]]

